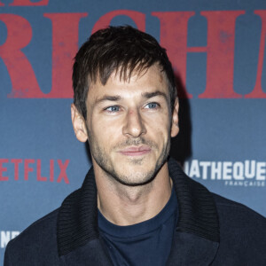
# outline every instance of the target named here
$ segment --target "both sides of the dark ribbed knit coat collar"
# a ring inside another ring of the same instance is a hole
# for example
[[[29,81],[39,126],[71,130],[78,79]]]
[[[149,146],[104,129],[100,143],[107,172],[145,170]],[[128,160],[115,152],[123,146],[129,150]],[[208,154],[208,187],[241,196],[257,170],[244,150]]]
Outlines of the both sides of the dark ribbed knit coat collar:
[[[212,194],[186,176],[176,160],[168,160],[168,168],[179,211],[173,246],[177,245],[176,241],[183,242],[184,239],[188,244],[205,241],[216,246],[215,253],[219,242],[219,221]],[[57,226],[59,256],[99,239],[97,187],[93,168],[85,177],[82,188],[70,194],[62,203]]]

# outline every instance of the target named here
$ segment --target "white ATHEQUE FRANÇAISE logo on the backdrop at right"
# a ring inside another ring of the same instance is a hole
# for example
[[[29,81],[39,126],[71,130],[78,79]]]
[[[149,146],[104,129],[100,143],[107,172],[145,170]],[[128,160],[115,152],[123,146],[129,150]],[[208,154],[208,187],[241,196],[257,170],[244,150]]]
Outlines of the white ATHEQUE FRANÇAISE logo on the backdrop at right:
[[[191,160],[184,163],[184,172],[192,178],[222,181],[224,185],[264,187],[266,162]]]

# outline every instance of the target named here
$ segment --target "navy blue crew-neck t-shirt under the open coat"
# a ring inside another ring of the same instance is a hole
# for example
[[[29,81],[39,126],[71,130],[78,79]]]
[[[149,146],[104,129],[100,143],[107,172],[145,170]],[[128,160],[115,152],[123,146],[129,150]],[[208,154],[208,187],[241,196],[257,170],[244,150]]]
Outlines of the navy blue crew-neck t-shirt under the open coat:
[[[162,266],[170,253],[177,221],[174,189],[167,205],[152,219],[129,226],[110,223],[98,211],[101,237],[115,266]]]

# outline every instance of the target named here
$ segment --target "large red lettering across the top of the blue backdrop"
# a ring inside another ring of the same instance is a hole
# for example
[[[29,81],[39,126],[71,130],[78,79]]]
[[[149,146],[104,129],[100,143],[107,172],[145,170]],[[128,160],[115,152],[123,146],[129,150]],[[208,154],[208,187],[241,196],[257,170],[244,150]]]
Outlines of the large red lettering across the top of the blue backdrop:
[[[15,0],[12,5],[45,5],[48,1],[31,3]],[[0,2],[0,5],[4,5]],[[153,12],[160,20],[160,43],[168,49],[175,71],[185,81],[187,52],[207,52],[207,84],[199,98],[241,98],[233,90],[233,59],[235,21],[244,11],[201,12],[207,19],[207,46],[187,47],[187,24],[194,12]],[[262,35],[254,90],[245,98],[266,98],[262,90],[262,66],[266,37],[266,11],[255,11],[262,20]],[[135,21],[137,28],[145,31],[145,14],[120,10],[108,12],[95,24],[92,32],[110,24],[115,16],[125,15]],[[72,98],[71,66],[78,49],[78,25],[87,13],[46,13],[52,24],[52,86],[44,94],[35,78],[34,70],[21,51],[30,43],[32,28],[29,22],[14,14],[0,14],[7,27],[7,38],[0,46],[0,57],[11,76],[12,92],[9,98]],[[25,79],[27,76],[27,79]],[[192,98],[187,92],[184,96]],[[183,96],[183,97],[184,97]],[[182,97],[182,96],[181,96]]]

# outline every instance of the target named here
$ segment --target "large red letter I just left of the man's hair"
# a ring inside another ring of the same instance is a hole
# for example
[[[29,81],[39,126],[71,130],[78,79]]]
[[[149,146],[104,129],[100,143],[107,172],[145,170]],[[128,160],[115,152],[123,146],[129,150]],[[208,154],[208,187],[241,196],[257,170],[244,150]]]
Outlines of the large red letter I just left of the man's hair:
[[[51,92],[45,98],[73,98],[72,66],[78,50],[79,21],[88,13],[45,13],[52,24]]]

